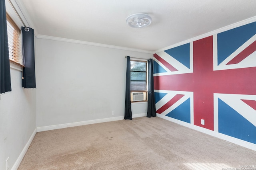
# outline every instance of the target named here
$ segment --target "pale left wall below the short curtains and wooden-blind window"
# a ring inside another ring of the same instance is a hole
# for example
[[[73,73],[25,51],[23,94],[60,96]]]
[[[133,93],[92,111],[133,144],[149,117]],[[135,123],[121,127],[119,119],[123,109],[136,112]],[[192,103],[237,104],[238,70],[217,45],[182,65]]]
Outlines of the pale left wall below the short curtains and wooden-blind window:
[[[12,92],[1,94],[0,100],[0,169],[10,168],[20,156],[36,129],[36,90],[22,88],[22,72],[11,64]]]

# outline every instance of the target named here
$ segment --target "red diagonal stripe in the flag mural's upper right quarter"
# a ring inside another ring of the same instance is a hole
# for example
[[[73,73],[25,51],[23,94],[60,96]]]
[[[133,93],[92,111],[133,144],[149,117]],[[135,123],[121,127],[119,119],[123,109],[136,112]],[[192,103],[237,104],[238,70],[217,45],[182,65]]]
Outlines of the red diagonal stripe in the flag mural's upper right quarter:
[[[252,44],[250,44],[248,47],[246,47],[246,49],[244,49],[236,57],[234,57],[232,60],[230,60],[226,65],[240,63],[243,59],[248,57],[254,51],[256,51],[256,41],[254,41]]]

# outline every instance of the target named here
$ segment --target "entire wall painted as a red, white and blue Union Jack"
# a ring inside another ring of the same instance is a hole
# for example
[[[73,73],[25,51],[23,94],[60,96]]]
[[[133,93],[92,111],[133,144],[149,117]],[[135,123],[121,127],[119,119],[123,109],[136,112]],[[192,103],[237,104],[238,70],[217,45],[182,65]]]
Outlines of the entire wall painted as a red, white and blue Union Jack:
[[[154,54],[154,88],[156,113],[256,144],[256,22]]]

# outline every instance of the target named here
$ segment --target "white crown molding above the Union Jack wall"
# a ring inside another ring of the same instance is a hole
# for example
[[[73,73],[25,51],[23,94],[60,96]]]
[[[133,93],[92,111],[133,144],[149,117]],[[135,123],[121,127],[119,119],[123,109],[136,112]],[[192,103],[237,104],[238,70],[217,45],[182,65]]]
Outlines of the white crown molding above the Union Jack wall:
[[[228,31],[230,29],[233,29],[233,28],[236,28],[236,27],[240,27],[242,25],[246,25],[248,23],[252,23],[252,22],[255,22],[256,21],[256,16],[252,17],[252,18],[248,18],[246,20],[242,20],[242,21],[239,21],[239,22],[236,22],[236,23],[233,23],[231,25],[227,25],[225,27],[222,27],[222,28],[219,28],[219,29],[216,29],[214,31],[210,31],[208,33],[205,33],[205,34],[202,34],[202,35],[199,35],[197,37],[193,37],[191,39],[187,39],[185,41],[182,41],[182,42],[179,42],[179,43],[176,43],[174,45],[170,45],[170,46],[167,46],[167,47],[164,47],[162,49],[159,49],[159,50],[156,50],[156,51],[153,51],[153,54],[155,53],[159,53],[161,51],[165,51],[165,50],[168,50],[168,49],[171,49],[171,48],[174,48],[174,47],[178,47],[180,45],[184,45],[186,43],[191,43],[193,41],[196,41],[196,40],[199,40],[199,39],[202,39],[202,38],[205,38],[205,37],[209,37],[211,35],[215,35],[215,34],[218,34],[218,33],[221,33],[221,32],[224,32],[224,31]]]

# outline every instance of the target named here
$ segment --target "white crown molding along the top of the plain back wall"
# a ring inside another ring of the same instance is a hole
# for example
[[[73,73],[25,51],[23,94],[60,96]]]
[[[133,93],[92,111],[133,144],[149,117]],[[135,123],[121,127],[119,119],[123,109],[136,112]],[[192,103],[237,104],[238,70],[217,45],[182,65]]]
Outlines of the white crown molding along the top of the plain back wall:
[[[80,41],[80,40],[75,40],[75,39],[52,37],[52,36],[48,36],[48,35],[40,35],[39,34],[39,35],[36,36],[36,38],[38,38],[38,39],[49,39],[49,40],[54,40],[54,41],[63,41],[63,42],[68,42],[68,43],[85,44],[85,45],[92,45],[92,46],[97,46],[97,47],[106,47],[106,48],[111,48],[111,49],[120,49],[120,50],[127,50],[127,51],[135,51],[135,52],[140,52],[140,53],[153,54],[153,51],[146,51],[146,50],[141,50],[141,49],[133,49],[133,48],[120,47],[120,46],[115,46],[115,45],[100,44],[100,43],[92,43],[92,42],[88,42],[88,41]]]

